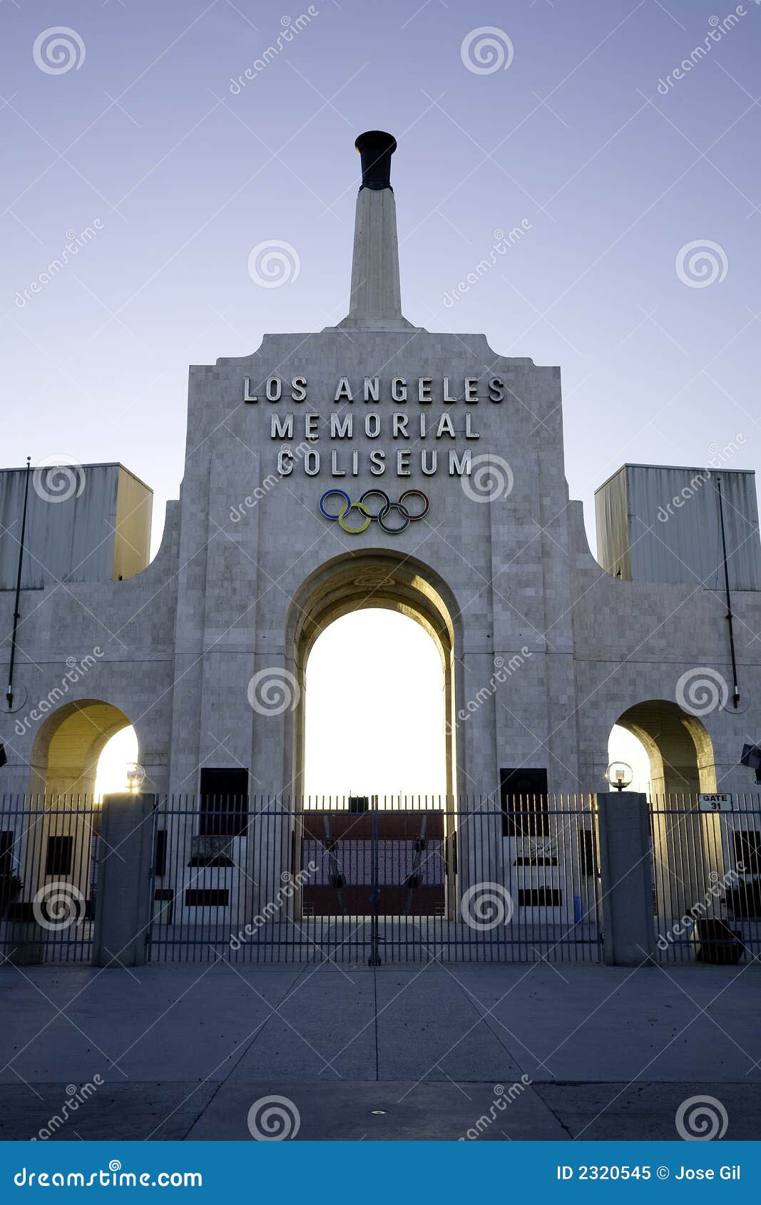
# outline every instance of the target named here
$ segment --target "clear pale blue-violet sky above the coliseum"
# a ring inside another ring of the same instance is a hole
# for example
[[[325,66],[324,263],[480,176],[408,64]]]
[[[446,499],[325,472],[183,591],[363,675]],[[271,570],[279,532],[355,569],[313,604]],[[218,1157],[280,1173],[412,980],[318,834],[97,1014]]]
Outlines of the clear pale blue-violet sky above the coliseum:
[[[732,466],[755,468],[755,0],[666,94],[658,81],[706,45],[728,0],[318,0],[232,94],[282,18],[306,8],[1,6],[0,462],[119,459],[156,490],[160,530],[182,477],[188,363],[345,313],[352,143],[380,127],[399,140],[406,316],[562,365],[567,475],[590,531],[595,486],[626,460],[703,464],[742,433]],[[33,46],[57,25],[76,31],[84,58],[51,74]],[[461,46],[487,25],[510,39],[513,60],[476,74]],[[521,219],[531,229],[520,242],[447,307],[493,231]],[[19,305],[66,231],[95,221],[103,229],[76,259]],[[300,259],[298,278],[276,289],[246,271],[267,239]],[[706,240],[726,276],[689,287],[677,254]]]

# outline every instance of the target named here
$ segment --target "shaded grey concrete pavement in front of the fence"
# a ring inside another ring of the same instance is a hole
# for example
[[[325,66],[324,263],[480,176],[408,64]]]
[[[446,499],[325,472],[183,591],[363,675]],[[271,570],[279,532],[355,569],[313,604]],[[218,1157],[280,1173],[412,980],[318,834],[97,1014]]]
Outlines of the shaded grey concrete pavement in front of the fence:
[[[759,1138],[760,1004],[755,966],[6,966],[0,1139],[250,1139],[270,1095],[298,1139],[673,1139],[701,1093]]]

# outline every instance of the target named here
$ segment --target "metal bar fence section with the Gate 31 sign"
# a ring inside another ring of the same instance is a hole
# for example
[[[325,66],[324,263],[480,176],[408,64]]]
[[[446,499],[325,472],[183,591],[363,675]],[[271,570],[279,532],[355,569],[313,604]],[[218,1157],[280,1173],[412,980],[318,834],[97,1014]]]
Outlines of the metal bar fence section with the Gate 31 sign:
[[[761,797],[654,795],[657,957],[748,963],[761,956]]]

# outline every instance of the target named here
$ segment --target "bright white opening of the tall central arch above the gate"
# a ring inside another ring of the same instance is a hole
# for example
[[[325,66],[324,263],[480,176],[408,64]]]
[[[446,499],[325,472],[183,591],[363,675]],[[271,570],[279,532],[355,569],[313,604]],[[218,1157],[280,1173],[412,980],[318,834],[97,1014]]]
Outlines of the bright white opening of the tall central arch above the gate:
[[[441,653],[406,615],[357,611],[312,645],[304,789],[323,798],[446,793]]]

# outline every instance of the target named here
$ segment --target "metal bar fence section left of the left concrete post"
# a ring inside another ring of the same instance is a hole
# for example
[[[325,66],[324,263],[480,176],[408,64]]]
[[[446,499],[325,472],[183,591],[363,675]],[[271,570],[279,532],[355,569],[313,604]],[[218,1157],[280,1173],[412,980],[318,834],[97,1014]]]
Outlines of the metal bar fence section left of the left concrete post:
[[[0,797],[0,963],[92,960],[99,818],[92,795]]]

